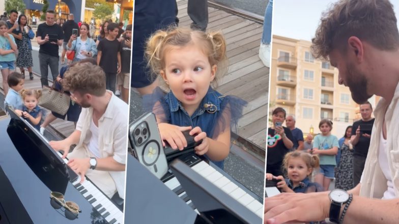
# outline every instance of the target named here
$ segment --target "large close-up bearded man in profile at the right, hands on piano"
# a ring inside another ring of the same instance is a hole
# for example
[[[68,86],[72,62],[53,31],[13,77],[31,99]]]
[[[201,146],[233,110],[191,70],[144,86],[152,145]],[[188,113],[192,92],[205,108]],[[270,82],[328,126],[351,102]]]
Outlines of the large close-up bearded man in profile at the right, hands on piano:
[[[329,218],[334,223],[397,223],[399,220],[399,33],[388,0],[341,0],[321,18],[312,40],[316,58],[330,60],[338,82],[363,104],[382,99],[360,183],[346,192],[281,194],[265,199],[268,224]]]

